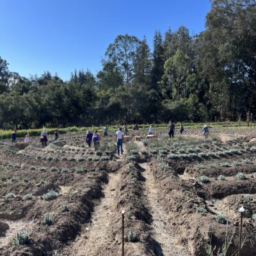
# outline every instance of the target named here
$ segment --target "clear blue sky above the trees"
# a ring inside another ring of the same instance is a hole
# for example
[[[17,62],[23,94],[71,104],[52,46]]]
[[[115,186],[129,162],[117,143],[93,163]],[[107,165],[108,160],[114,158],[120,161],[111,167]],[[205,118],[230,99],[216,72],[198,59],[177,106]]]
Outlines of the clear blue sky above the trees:
[[[158,29],[203,31],[210,7],[209,0],[0,0],[0,56],[26,77],[96,74],[117,35],[145,35],[152,49]]]

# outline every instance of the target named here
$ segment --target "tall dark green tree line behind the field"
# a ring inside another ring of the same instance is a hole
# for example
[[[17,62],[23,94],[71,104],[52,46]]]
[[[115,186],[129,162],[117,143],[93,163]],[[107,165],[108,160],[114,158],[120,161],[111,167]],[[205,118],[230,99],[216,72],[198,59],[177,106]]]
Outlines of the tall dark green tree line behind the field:
[[[212,0],[205,30],[118,35],[102,70],[22,77],[0,58],[0,128],[245,119],[256,111],[256,2]]]

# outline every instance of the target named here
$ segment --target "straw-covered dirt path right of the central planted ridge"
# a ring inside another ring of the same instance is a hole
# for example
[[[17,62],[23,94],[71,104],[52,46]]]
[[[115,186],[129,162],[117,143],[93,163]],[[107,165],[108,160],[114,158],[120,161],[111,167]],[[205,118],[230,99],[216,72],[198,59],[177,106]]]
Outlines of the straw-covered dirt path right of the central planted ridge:
[[[140,164],[144,169],[145,195],[148,198],[150,214],[152,214],[152,237],[156,241],[157,256],[189,256],[184,246],[178,245],[177,237],[172,234],[172,227],[169,225],[168,216],[158,202],[157,185],[153,173],[147,163]]]

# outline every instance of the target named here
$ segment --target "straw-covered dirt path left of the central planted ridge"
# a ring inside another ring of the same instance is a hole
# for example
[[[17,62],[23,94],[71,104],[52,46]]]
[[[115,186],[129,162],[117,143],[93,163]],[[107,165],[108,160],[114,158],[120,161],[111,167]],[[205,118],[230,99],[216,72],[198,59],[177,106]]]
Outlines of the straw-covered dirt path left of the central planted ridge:
[[[109,182],[103,188],[104,198],[99,200],[92,213],[90,223],[86,223],[81,230],[81,236],[65,252],[70,256],[100,256],[100,247],[109,240],[109,230],[113,221],[116,207],[116,184],[120,180],[120,173],[110,173]]]

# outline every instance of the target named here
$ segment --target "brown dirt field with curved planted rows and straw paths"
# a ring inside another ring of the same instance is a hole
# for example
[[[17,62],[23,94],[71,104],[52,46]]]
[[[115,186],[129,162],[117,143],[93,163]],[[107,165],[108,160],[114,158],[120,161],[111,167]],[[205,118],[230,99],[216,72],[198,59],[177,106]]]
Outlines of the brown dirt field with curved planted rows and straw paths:
[[[124,156],[113,133],[97,152],[82,133],[0,141],[0,255],[122,255],[122,210],[125,255],[232,255],[241,206],[241,255],[256,255],[256,132],[210,132],[132,131]]]

